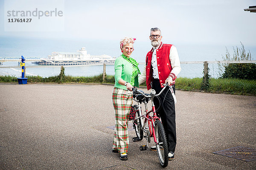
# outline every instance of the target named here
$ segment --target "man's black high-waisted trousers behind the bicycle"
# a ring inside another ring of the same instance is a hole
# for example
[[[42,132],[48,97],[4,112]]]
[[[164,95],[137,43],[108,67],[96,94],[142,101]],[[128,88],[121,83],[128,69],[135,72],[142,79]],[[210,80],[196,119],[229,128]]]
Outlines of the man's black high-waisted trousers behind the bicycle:
[[[163,82],[164,83],[164,82]],[[175,92],[175,85],[172,85]],[[152,89],[156,91],[156,94],[162,90],[159,79],[153,79]],[[167,93],[167,94],[166,94]],[[160,102],[157,97],[154,97],[154,105],[157,110],[157,115],[160,116],[163,128],[166,133],[166,139],[168,144],[168,150],[175,152],[176,147],[176,122],[175,122],[175,104],[171,91],[167,87],[163,93],[159,96]],[[160,107],[160,108],[159,108]]]

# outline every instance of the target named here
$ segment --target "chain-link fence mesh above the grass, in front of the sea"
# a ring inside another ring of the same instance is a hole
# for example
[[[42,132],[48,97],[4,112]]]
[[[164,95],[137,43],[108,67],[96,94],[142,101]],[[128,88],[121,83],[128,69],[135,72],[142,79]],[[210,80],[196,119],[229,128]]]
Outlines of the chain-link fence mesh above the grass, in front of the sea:
[[[210,78],[221,78],[224,73],[224,64],[228,63],[256,63],[253,61],[207,61],[208,74]],[[139,63],[140,71],[143,71],[145,63]],[[103,63],[88,65],[64,65],[65,75],[74,77],[91,77],[103,73]],[[177,78],[201,79],[204,77],[204,62],[180,62],[181,71]],[[51,77],[60,74],[61,65],[35,65],[26,66],[26,76]],[[106,64],[106,74],[114,75],[114,64]],[[0,66],[2,76],[21,76],[20,66]]]

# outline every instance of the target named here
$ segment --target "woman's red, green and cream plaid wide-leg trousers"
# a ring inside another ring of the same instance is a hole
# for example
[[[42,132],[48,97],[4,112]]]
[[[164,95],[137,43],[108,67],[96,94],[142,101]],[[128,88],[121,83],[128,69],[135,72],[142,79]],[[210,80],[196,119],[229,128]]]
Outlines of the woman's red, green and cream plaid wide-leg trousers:
[[[128,119],[132,104],[132,92],[114,87],[112,102],[115,110],[116,125],[114,131],[113,150],[127,153],[129,146]]]

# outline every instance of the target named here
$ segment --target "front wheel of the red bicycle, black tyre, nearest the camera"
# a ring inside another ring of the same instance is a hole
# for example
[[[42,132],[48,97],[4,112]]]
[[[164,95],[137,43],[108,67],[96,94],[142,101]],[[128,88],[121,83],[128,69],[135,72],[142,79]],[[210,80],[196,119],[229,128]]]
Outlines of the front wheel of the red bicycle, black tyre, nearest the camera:
[[[166,167],[169,163],[168,146],[167,146],[167,142],[166,142],[166,134],[165,134],[163,125],[160,122],[160,120],[155,121],[154,130],[155,130],[156,139],[157,139],[156,147],[157,147],[158,159],[160,161],[161,166]],[[160,147],[160,145],[161,145],[161,147]]]

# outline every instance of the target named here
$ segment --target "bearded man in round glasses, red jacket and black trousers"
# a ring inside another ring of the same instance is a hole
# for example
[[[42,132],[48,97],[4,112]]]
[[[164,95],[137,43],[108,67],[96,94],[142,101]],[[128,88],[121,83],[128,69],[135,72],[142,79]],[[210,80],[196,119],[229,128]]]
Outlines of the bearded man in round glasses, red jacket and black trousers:
[[[175,91],[175,79],[181,70],[177,48],[171,44],[163,44],[159,28],[151,28],[149,39],[153,48],[146,56],[139,84],[146,81],[148,90],[152,88],[158,94],[163,88],[163,83],[168,83]],[[176,147],[175,103],[168,88],[160,95],[160,101],[161,106],[159,99],[154,98],[157,115],[161,117],[166,132],[168,157],[172,160]],[[151,147],[151,150],[156,150],[156,147]]]

